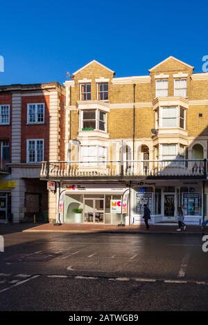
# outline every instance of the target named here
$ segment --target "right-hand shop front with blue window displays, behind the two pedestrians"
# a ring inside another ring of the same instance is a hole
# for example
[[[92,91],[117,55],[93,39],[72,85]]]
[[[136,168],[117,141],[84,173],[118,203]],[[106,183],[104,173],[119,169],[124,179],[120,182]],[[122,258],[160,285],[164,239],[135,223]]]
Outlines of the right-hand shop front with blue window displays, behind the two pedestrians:
[[[151,211],[152,223],[176,223],[177,208],[183,205],[187,224],[200,225],[203,216],[202,183],[155,181],[132,186],[132,223],[143,223],[144,204]],[[206,212],[205,212],[206,213]]]

